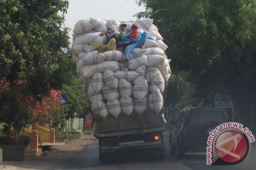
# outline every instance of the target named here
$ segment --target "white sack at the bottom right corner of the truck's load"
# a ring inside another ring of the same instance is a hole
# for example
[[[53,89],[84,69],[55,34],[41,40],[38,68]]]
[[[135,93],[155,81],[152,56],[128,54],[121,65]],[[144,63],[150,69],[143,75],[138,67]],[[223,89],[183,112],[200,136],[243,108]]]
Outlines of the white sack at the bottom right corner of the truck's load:
[[[149,94],[148,96],[148,106],[151,110],[155,111],[156,114],[159,114],[161,108],[163,107],[163,96],[160,93]]]

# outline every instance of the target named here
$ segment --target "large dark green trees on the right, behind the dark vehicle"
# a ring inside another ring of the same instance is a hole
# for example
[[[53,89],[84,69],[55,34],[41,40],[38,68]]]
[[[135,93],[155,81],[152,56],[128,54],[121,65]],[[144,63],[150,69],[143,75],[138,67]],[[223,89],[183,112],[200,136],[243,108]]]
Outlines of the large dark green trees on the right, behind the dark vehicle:
[[[189,73],[204,105],[231,94],[237,120],[255,127],[256,1],[139,0],[169,45],[172,71]]]

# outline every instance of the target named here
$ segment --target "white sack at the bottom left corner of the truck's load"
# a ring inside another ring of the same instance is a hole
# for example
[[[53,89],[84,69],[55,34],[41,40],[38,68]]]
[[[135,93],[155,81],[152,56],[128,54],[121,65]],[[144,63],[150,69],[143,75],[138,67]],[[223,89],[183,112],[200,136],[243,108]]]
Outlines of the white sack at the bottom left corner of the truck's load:
[[[106,118],[108,115],[107,106],[102,101],[92,101],[92,113],[95,115],[100,115],[102,118]]]

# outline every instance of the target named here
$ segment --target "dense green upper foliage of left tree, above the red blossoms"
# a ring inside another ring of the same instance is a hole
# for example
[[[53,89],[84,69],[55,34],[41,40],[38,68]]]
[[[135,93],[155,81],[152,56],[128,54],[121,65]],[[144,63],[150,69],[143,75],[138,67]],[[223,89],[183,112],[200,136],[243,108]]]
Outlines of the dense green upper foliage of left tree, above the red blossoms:
[[[61,86],[54,75],[68,55],[68,30],[59,13],[67,8],[61,0],[0,1],[0,79],[26,81],[25,92],[35,96]]]

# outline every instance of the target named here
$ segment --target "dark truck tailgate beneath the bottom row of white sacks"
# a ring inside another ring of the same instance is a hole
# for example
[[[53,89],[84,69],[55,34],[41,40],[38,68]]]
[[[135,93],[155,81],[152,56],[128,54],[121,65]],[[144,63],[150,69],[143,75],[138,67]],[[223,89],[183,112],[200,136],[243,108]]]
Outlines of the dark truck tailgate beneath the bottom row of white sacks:
[[[107,115],[107,118],[95,118],[94,130],[96,137],[107,137],[112,135],[128,135],[142,132],[156,132],[164,130],[162,115],[157,115],[150,109],[142,115],[132,113],[126,115],[120,113],[118,118]]]

